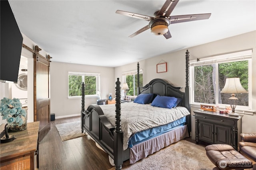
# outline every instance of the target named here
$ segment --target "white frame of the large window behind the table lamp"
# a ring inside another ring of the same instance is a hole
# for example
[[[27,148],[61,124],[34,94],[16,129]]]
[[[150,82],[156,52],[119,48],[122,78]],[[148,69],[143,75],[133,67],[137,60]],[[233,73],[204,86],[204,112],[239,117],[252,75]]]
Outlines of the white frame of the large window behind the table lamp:
[[[192,106],[200,107],[201,104],[205,103],[198,103],[194,102],[194,66],[203,66],[208,64],[216,64],[215,69],[215,88],[218,89],[219,83],[218,83],[218,64],[220,63],[230,63],[230,62],[236,62],[236,61],[245,61],[248,60],[248,106],[236,106],[236,112],[241,111],[252,111],[252,50],[246,50],[246,51],[240,51],[236,53],[229,53],[225,55],[216,55],[214,57],[206,57],[203,59],[198,60],[191,60],[190,61],[190,84],[191,84],[191,90],[190,90],[190,103]],[[215,103],[211,104],[214,106],[220,106],[220,108],[225,108],[229,104],[219,104],[218,102],[219,94],[216,93],[215,96]]]

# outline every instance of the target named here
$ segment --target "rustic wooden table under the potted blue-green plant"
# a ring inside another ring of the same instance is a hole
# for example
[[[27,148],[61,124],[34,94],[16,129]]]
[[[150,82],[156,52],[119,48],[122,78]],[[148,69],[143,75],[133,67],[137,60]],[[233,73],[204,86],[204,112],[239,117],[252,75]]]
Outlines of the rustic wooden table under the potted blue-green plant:
[[[9,133],[16,139],[9,143],[0,144],[0,169],[24,170],[35,169],[35,154],[38,167],[38,130],[39,121],[28,123],[27,129]]]

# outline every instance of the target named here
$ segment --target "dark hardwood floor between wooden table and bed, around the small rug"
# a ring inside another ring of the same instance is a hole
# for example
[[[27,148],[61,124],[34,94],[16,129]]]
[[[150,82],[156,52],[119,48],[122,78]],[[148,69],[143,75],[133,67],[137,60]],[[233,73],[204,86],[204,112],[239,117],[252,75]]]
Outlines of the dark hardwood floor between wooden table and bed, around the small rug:
[[[39,143],[40,170],[108,170],[113,167],[108,154],[98,149],[90,137],[61,141],[55,125],[79,120],[80,116],[51,121],[51,130]],[[185,140],[195,143],[190,138]],[[208,144],[199,145],[205,147]]]

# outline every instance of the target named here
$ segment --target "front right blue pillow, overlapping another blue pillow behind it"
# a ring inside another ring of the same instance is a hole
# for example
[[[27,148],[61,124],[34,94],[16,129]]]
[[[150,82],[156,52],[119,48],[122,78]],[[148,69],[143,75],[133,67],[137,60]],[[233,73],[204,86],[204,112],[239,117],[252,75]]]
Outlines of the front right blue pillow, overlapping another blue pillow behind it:
[[[178,99],[175,97],[157,95],[156,98],[153,100],[151,106],[171,109],[177,102],[177,100]]]

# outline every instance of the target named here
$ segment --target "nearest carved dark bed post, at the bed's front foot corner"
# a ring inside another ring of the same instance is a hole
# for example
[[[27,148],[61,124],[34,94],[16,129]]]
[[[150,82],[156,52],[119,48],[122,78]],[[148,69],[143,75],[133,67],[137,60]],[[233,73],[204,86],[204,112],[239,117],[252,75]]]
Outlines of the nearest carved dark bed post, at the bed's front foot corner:
[[[114,131],[114,164],[116,170],[122,169],[123,164],[123,133],[121,130],[121,82],[116,81],[116,125]]]

